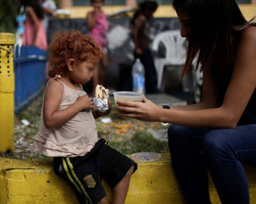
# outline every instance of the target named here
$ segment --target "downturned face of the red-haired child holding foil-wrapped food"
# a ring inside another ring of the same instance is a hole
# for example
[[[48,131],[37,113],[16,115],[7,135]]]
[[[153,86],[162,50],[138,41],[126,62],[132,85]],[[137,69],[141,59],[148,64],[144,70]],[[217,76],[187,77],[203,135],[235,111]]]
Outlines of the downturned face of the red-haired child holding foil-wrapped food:
[[[76,83],[85,84],[91,80],[98,63],[99,61],[76,62],[73,70],[69,73],[69,77]]]

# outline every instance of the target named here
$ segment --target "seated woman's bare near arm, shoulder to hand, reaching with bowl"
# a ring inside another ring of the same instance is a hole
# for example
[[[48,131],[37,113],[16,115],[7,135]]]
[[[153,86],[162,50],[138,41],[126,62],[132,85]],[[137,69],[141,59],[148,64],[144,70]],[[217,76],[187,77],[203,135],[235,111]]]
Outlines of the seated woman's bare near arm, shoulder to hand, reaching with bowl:
[[[198,128],[236,128],[256,87],[256,28],[246,29],[241,37],[231,81],[219,108],[198,111],[179,111],[159,108],[151,101],[145,103],[120,102],[124,117],[143,121],[162,121]]]

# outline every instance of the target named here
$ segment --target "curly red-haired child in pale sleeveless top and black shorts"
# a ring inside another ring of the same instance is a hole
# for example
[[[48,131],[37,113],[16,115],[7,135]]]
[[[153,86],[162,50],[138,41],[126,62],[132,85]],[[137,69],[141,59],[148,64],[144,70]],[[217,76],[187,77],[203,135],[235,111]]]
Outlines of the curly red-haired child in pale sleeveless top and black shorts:
[[[82,84],[93,76],[103,53],[90,37],[78,31],[57,33],[49,48],[52,79],[44,92],[41,124],[33,149],[54,157],[57,175],[67,180],[81,203],[105,203],[104,177],[113,188],[113,204],[124,203],[137,164],[98,139],[95,119],[107,115],[93,109]]]

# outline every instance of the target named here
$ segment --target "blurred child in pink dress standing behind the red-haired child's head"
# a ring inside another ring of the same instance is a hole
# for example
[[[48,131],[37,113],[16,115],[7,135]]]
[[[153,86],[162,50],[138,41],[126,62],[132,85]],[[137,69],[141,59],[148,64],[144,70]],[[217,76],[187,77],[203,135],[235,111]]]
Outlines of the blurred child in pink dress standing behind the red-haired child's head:
[[[105,73],[108,67],[107,56],[107,30],[108,21],[105,13],[101,10],[103,6],[103,0],[91,0],[93,11],[87,14],[87,26],[90,29],[90,36],[98,43],[98,45],[105,52],[105,55],[101,58],[101,69],[94,70],[93,76],[93,91],[98,83],[104,84]],[[95,94],[95,93],[94,93]]]

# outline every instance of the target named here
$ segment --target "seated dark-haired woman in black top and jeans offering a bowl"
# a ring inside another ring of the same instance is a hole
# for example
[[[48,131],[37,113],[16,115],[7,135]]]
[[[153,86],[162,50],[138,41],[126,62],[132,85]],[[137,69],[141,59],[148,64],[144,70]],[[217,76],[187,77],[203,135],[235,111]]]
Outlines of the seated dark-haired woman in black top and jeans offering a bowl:
[[[143,98],[116,108],[123,117],[174,124],[169,147],[187,203],[210,203],[207,168],[222,203],[249,203],[241,163],[256,165],[256,27],[235,0],[174,0],[173,6],[189,41],[181,77],[198,54],[201,103],[163,109]]]

